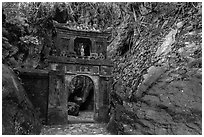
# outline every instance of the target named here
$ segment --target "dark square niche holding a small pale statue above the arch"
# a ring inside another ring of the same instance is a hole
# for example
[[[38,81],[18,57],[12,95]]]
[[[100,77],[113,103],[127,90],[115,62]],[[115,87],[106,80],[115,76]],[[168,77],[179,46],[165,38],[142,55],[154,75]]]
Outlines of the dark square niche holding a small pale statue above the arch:
[[[82,56],[81,49],[84,48],[84,56],[90,56],[91,53],[91,40],[87,38],[76,38],[74,40],[74,51],[76,55]]]

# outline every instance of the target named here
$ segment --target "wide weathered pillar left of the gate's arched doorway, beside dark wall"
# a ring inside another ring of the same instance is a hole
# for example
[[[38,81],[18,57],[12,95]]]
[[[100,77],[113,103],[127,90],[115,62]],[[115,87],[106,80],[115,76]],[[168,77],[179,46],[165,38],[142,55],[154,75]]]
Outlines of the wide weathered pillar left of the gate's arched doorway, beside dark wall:
[[[64,74],[51,71],[49,74],[48,124],[67,123],[67,93]]]

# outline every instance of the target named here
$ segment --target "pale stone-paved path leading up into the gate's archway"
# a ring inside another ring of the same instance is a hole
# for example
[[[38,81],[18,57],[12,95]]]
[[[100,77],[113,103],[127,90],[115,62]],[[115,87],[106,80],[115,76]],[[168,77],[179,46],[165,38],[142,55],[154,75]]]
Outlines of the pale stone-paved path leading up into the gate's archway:
[[[70,124],[44,126],[41,135],[110,135],[106,124],[94,123],[93,112],[81,112],[79,116],[68,115]]]

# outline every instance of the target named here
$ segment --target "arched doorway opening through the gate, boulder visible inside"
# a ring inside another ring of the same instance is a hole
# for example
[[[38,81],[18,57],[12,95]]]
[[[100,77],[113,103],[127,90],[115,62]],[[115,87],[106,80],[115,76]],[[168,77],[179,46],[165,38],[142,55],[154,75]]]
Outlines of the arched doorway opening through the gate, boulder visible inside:
[[[94,81],[86,75],[77,75],[72,78],[69,85],[70,90],[68,92],[70,93],[68,93],[68,107],[72,108],[69,108],[68,120],[93,120],[95,89]],[[78,113],[71,112],[70,110],[78,111]]]

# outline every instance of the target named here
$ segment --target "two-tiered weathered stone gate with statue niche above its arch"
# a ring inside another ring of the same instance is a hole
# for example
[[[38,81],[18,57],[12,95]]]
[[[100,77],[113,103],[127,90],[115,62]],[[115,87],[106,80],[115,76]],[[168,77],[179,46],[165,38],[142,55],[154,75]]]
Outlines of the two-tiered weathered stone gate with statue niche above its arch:
[[[108,33],[56,26],[55,50],[49,62],[48,123],[66,122],[70,83],[87,76],[94,83],[94,120],[108,121],[113,64],[107,59]]]

